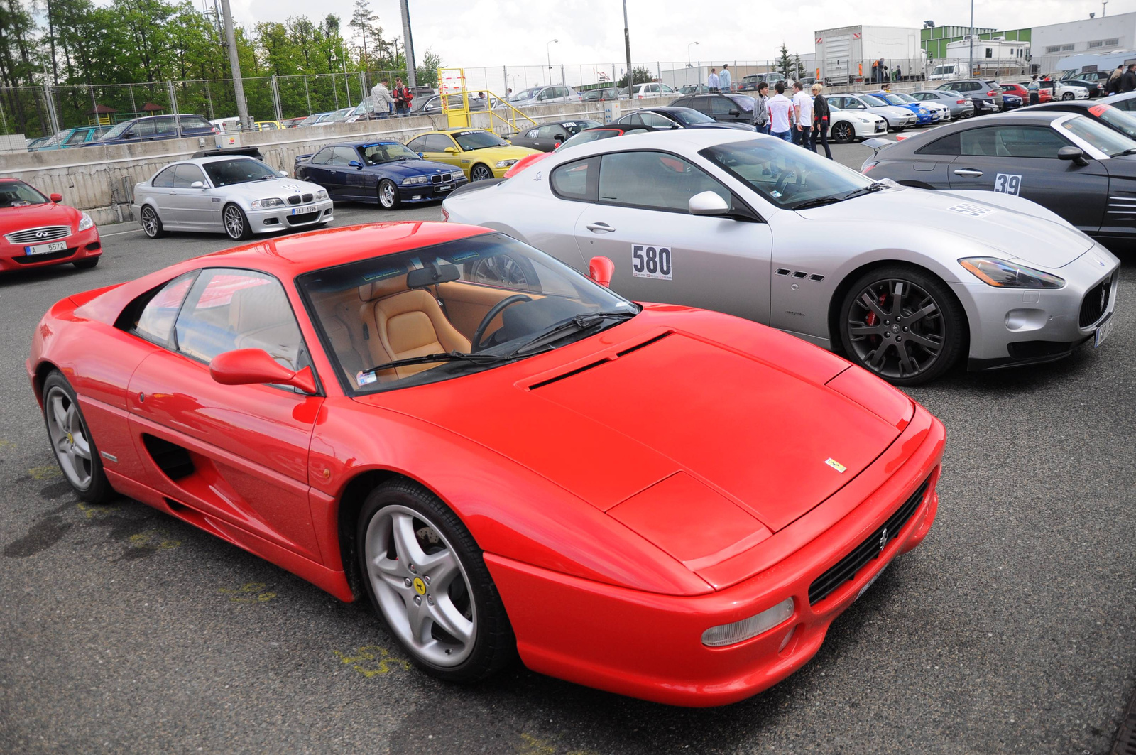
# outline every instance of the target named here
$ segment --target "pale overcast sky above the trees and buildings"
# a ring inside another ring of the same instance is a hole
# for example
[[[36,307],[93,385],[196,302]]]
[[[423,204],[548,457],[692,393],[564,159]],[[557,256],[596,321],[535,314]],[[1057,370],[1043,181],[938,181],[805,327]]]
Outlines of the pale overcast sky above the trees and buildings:
[[[200,0],[195,0],[200,5]],[[353,0],[231,0],[237,23],[284,20],[292,15],[351,18]],[[318,8],[318,10],[317,10]],[[384,35],[402,35],[398,0],[371,0]],[[1112,0],[1108,15],[1136,10],[1136,0]],[[1101,15],[1091,0],[982,0],[975,6],[975,26],[1020,28],[1037,19],[1047,23]],[[704,63],[758,60],[776,56],[784,41],[790,52],[813,50],[819,28],[874,24],[920,27],[932,19],[939,26],[969,25],[967,0],[627,0],[632,58],[637,61],[685,60]],[[619,61],[624,59],[624,18],[620,0],[410,0],[416,57],[427,49],[448,66],[521,66],[545,60],[545,42],[553,65]]]

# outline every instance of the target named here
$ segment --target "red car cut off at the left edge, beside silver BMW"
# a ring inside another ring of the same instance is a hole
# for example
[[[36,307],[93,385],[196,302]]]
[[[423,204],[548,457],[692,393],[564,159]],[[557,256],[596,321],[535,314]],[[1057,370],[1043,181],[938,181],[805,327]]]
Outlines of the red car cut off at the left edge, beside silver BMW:
[[[86,213],[44,197],[18,179],[0,177],[0,271],[99,264],[99,230]]]

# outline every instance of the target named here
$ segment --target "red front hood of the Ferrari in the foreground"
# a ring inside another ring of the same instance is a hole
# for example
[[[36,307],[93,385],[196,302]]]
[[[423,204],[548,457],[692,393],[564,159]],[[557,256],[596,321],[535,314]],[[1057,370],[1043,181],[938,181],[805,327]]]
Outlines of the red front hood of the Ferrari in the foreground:
[[[491,370],[468,381],[471,393],[437,383],[359,400],[481,443],[671,555],[684,538],[703,540],[724,522],[735,544],[768,537],[846,484],[899,434],[835,390],[754,356],[682,332],[640,340],[615,358],[585,351],[553,366],[552,352]],[[645,531],[651,526],[666,531]]]

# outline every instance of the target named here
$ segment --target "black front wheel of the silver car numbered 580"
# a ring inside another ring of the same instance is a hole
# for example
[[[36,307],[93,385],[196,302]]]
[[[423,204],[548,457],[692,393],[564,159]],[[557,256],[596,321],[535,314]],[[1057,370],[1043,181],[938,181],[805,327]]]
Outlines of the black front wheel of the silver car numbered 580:
[[[958,362],[966,340],[950,289],[912,265],[877,267],[853,281],[838,323],[847,358],[893,385],[935,380]]]

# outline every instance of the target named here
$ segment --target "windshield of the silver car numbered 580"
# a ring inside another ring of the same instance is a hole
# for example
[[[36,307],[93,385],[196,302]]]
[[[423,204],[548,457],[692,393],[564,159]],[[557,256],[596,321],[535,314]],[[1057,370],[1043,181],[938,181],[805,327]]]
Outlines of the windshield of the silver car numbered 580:
[[[874,181],[838,163],[780,139],[754,139],[699,152],[749,184],[767,201],[787,209],[842,201],[866,193]]]

